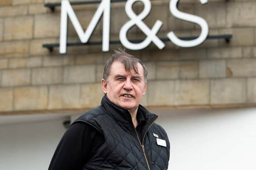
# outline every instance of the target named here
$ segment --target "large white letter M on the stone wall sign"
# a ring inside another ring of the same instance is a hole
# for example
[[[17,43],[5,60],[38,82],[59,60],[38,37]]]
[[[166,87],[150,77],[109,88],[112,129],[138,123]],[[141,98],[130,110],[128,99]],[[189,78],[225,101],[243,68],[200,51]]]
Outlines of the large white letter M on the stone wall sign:
[[[98,24],[100,17],[103,15],[103,32],[102,32],[102,51],[109,50],[109,34],[110,34],[110,0],[102,0],[100,6],[96,10],[92,20],[84,32],[81,24],[79,23],[74,10],[72,9],[68,0],[61,2],[61,15],[60,15],[60,53],[66,53],[67,48],[67,24],[68,16],[78,34],[82,43],[87,43],[92,35],[93,30]]]

